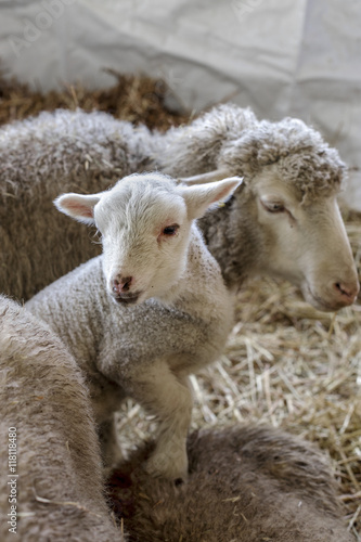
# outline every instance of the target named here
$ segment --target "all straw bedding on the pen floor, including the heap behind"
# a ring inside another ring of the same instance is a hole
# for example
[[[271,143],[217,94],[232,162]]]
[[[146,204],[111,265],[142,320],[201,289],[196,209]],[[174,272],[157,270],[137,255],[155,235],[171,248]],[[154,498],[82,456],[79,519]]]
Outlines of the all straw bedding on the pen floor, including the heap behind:
[[[0,80],[0,124],[77,106],[162,130],[189,118],[167,111],[164,82],[115,77],[109,90],[76,86],[46,95]],[[361,214],[343,212],[360,274]],[[336,314],[318,312],[289,284],[257,279],[237,295],[235,322],[222,358],[192,377],[192,426],[271,424],[315,442],[332,459],[346,525],[361,540],[360,301]],[[127,453],[149,435],[152,420],[129,400],[118,427]]]

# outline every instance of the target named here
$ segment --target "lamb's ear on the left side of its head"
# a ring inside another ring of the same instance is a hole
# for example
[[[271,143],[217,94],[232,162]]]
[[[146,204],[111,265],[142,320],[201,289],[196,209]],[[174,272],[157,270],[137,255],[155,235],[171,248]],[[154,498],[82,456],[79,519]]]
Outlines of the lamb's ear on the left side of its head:
[[[79,222],[91,225],[94,224],[94,206],[101,198],[101,194],[82,195],[82,194],[63,194],[54,201],[55,207],[67,215],[75,218]]]

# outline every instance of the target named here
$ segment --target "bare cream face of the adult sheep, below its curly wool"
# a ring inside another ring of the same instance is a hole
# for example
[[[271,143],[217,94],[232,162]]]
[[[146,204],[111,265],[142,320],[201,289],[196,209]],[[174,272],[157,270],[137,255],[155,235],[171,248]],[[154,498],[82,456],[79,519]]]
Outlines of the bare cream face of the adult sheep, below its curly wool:
[[[282,179],[273,165],[253,183],[269,274],[299,286],[317,309],[351,305],[359,281],[335,194],[325,191],[312,199]]]

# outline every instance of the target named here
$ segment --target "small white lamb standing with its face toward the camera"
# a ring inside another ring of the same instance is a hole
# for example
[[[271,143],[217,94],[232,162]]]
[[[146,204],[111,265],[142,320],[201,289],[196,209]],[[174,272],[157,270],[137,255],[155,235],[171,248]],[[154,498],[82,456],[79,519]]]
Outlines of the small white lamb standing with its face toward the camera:
[[[232,178],[182,186],[160,173],[132,175],[111,191],[56,199],[60,210],[96,224],[104,253],[26,308],[64,340],[87,375],[107,464],[116,459],[109,420],[131,396],[159,421],[147,472],[186,478],[188,375],[217,359],[233,315],[232,296],[194,220],[238,184]]]

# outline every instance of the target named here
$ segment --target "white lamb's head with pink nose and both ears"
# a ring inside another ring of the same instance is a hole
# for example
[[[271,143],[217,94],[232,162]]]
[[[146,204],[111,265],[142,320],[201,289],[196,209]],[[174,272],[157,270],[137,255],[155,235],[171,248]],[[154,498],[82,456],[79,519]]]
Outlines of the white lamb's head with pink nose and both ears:
[[[80,222],[96,225],[106,288],[116,302],[169,300],[186,267],[194,220],[229,196],[240,181],[180,186],[160,173],[131,175],[106,192],[63,194],[55,205]]]

